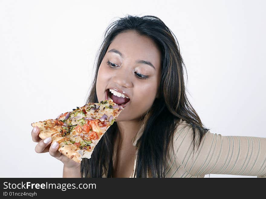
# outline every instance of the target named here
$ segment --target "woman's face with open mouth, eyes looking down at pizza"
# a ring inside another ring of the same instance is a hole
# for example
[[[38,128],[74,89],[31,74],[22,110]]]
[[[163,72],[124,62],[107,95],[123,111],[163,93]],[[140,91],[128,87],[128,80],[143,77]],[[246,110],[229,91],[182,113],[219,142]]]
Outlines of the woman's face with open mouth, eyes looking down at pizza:
[[[154,41],[131,30],[120,33],[110,44],[99,67],[98,101],[106,100],[110,88],[118,91],[130,101],[123,95],[119,97],[119,93],[115,93],[117,97],[109,93],[115,103],[125,104],[116,121],[139,119],[158,97],[160,75],[161,53]]]

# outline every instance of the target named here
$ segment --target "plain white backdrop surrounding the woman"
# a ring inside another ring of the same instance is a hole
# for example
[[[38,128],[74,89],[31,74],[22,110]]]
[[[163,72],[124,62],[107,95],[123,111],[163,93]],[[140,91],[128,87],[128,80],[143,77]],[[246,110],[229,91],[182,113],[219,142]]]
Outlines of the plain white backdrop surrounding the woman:
[[[0,1],[0,177],[62,177],[60,161],[35,153],[31,123],[85,104],[105,28],[126,14],[155,15],[177,36],[188,97],[212,133],[266,137],[265,6],[232,0]]]

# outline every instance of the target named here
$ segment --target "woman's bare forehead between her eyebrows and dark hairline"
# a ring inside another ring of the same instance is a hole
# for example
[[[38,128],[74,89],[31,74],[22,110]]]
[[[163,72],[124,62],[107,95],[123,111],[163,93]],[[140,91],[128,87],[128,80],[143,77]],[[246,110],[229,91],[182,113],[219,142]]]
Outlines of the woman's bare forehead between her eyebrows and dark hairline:
[[[124,59],[130,58],[133,61],[146,60],[152,62],[154,67],[160,66],[161,53],[155,42],[151,38],[139,35],[135,31],[130,30],[119,33],[113,39],[107,51],[113,48],[120,51]]]

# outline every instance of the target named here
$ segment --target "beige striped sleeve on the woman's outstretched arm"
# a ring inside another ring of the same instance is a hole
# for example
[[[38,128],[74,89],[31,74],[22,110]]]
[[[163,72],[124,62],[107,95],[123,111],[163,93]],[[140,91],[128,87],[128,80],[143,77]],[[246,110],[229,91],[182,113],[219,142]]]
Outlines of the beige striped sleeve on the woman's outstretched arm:
[[[191,126],[183,126],[182,130],[177,128],[174,134],[176,161],[191,175],[266,177],[266,138],[222,136],[207,131],[198,147],[199,131],[197,128],[195,130],[194,153]]]

